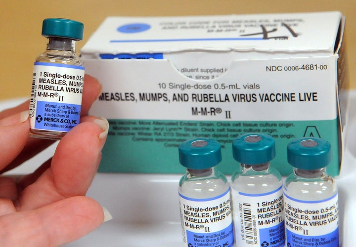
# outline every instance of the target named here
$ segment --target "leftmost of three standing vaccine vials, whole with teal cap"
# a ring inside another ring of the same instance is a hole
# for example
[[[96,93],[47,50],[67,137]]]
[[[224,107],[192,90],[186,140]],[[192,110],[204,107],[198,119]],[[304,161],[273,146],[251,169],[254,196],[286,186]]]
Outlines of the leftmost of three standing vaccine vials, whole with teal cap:
[[[232,247],[230,187],[215,168],[222,160],[219,142],[195,138],[178,150],[179,162],[186,167],[178,189],[184,246]]]

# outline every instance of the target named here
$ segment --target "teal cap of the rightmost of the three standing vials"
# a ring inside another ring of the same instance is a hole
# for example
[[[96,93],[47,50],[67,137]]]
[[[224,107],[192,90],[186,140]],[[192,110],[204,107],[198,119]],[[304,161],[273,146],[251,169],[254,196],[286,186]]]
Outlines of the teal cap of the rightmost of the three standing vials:
[[[331,162],[331,145],[316,137],[303,137],[291,141],[287,146],[288,163],[304,170],[323,168]]]

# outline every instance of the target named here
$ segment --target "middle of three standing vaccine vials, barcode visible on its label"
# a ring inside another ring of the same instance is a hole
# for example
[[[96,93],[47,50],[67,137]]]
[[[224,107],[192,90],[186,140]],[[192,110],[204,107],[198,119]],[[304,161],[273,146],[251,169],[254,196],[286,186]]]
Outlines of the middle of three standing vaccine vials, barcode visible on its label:
[[[275,157],[271,136],[248,133],[232,142],[240,163],[231,177],[235,243],[238,247],[284,247],[283,182],[270,167]]]

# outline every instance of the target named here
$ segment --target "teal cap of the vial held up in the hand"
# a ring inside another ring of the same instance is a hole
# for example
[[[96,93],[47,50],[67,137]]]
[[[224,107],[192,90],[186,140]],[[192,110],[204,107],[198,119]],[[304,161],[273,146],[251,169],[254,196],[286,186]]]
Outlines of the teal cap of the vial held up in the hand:
[[[84,24],[78,21],[62,18],[48,18],[42,23],[42,35],[45,37],[63,37],[73,40],[83,40]]]

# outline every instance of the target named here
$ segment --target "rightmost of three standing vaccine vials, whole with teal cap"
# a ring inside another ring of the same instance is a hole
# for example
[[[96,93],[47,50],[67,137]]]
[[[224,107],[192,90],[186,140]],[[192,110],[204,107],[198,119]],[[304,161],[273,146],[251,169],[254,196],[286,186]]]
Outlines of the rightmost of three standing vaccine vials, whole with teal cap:
[[[339,246],[338,191],[326,166],[330,143],[300,138],[288,144],[293,173],[284,184],[286,243],[288,246]]]

